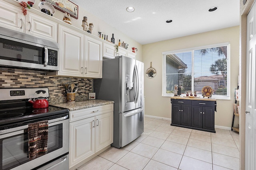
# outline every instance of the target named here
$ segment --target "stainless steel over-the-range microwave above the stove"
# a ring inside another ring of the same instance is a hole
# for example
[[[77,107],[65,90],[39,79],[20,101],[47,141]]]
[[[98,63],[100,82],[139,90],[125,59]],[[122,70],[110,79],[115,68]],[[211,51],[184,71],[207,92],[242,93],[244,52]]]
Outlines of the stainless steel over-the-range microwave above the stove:
[[[58,70],[59,44],[0,27],[0,65],[14,68]]]

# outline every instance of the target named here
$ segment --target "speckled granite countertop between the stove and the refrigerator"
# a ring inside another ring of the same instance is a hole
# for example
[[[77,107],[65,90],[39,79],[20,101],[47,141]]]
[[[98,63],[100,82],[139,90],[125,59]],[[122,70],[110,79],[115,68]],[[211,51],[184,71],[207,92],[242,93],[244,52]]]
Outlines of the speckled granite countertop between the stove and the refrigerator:
[[[63,107],[63,108],[69,109],[69,111],[74,111],[74,110],[78,110],[78,109],[86,109],[89,107],[102,106],[102,105],[113,104],[113,103],[114,103],[113,101],[109,101],[109,100],[85,100],[82,102],[53,103],[50,105],[57,106],[57,107]]]

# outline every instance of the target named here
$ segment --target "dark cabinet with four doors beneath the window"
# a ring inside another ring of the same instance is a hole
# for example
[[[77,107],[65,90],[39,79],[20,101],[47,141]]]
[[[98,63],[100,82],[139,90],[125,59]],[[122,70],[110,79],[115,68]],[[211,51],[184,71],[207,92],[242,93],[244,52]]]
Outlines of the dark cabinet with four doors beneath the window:
[[[171,99],[171,125],[214,132],[215,101]]]

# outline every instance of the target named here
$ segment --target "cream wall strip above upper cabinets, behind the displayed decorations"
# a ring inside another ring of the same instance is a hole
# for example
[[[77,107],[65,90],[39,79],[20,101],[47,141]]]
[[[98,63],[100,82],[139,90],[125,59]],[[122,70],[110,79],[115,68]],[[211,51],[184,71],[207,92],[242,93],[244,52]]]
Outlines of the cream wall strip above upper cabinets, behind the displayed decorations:
[[[71,0],[72,1],[72,0]],[[33,5],[32,8],[39,10],[38,4],[40,3],[40,0],[36,0],[36,3]],[[27,9],[29,11],[29,9]],[[54,18],[57,18],[59,20],[63,20],[64,13],[55,9],[55,14],[53,15]],[[108,40],[111,39],[112,33],[114,33],[115,38],[115,44],[118,44],[119,39],[124,41],[125,43],[128,43],[128,50],[132,51],[132,47],[136,47],[138,51],[136,51],[136,59],[139,61],[142,61],[142,45],[139,44],[137,41],[134,41],[130,37],[128,37],[126,34],[122,33],[122,30],[117,30],[116,28],[112,27],[111,25],[108,25],[103,20],[100,20],[96,16],[90,14],[89,12],[86,12],[82,7],[78,6],[78,20],[71,17],[72,25],[75,27],[78,27],[80,29],[83,29],[82,20],[86,16],[88,18],[88,23],[93,23],[94,30],[92,31],[93,35],[96,35],[98,37],[98,32],[103,32],[104,34],[108,35]],[[113,18],[114,20],[114,18]],[[122,47],[120,47],[122,48]]]

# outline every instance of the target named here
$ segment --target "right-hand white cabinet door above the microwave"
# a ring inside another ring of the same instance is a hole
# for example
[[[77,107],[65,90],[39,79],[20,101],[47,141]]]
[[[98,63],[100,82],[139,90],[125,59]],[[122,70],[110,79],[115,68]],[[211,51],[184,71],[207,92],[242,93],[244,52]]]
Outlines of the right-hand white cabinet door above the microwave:
[[[35,14],[27,14],[26,33],[40,38],[57,42],[57,23],[37,16]]]

